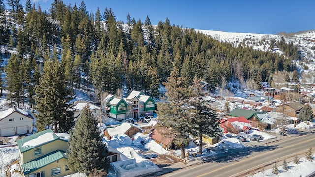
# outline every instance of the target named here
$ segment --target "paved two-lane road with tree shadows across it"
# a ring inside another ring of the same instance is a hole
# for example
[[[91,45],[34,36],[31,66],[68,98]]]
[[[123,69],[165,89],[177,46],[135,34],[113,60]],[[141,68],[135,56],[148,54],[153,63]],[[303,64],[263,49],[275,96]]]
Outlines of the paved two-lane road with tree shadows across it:
[[[296,154],[305,153],[310,147],[315,149],[315,133],[286,138],[283,141],[238,152],[226,152],[220,159],[203,159],[204,163],[175,170],[162,177],[237,177],[250,175],[252,170],[275,161],[283,161]]]

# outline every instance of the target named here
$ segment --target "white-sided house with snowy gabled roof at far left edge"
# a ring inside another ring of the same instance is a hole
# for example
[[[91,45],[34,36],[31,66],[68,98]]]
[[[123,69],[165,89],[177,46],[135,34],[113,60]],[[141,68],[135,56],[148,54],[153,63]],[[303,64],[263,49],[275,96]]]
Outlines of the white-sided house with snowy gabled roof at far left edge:
[[[19,108],[0,112],[0,137],[33,132],[33,116]]]

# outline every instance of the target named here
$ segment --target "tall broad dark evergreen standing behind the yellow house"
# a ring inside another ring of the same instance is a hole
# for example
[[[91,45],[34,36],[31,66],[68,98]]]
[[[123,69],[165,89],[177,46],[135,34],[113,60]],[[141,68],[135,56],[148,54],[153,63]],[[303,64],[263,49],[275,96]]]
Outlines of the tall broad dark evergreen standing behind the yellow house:
[[[39,85],[35,87],[35,93],[37,130],[42,131],[49,126],[55,132],[69,132],[74,125],[74,112],[69,111],[69,102],[74,96],[66,87],[64,69],[57,60],[44,63],[43,74]]]

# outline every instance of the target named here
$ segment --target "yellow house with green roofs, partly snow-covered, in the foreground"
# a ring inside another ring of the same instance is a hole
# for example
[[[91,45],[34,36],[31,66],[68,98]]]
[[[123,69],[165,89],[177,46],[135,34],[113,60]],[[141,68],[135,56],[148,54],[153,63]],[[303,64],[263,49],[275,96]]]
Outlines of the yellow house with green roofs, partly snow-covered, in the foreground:
[[[17,140],[25,177],[63,177],[73,174],[67,166],[69,134],[47,129]]]

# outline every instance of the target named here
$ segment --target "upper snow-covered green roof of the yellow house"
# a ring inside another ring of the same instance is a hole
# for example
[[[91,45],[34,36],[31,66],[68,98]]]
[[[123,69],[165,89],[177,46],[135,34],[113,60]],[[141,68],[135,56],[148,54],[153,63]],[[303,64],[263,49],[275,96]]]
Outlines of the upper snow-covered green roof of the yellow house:
[[[61,137],[57,136],[53,132],[53,130],[47,129],[47,130],[32,134],[30,136],[27,136],[25,138],[18,139],[16,142],[18,144],[20,152],[23,153],[33,148],[53,142],[55,140],[68,141],[63,136]]]

